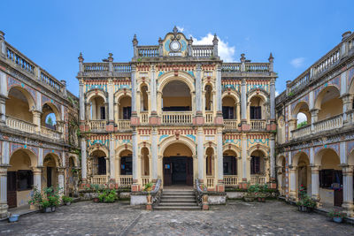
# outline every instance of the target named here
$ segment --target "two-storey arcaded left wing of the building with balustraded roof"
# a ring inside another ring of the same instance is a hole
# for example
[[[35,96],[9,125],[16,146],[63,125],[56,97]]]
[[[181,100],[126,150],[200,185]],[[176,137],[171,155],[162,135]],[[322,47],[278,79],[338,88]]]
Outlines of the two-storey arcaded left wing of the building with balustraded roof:
[[[65,80],[5,42],[0,31],[0,217],[27,205],[34,187],[74,193],[78,103]]]

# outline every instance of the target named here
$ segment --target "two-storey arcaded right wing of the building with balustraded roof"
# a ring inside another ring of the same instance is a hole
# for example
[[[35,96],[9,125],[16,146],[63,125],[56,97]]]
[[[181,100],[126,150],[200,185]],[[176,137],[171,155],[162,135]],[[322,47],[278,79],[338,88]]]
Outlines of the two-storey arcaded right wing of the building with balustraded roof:
[[[301,185],[319,205],[353,215],[354,34],[305,70],[276,98],[278,188],[296,200]],[[301,113],[301,115],[299,115]],[[300,116],[306,122],[299,124]]]

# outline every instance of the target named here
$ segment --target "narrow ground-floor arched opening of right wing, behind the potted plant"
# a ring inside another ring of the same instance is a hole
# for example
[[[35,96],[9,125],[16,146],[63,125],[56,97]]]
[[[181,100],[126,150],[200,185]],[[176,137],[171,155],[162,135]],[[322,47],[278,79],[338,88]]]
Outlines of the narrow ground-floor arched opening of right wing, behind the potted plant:
[[[297,173],[297,197],[300,196],[299,189],[300,187],[304,187],[306,194],[309,196],[312,195],[311,191],[311,168],[310,168],[310,160],[309,157],[304,153],[301,152],[294,157],[296,163],[296,173]]]

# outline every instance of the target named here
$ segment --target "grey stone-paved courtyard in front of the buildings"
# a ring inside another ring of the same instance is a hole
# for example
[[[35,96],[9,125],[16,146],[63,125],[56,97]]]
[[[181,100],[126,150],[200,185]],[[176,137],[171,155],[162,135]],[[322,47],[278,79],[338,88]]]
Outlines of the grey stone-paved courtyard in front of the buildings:
[[[0,222],[0,235],[354,235],[315,213],[284,202],[230,202],[209,211],[152,211],[112,204],[76,202],[55,213]]]

